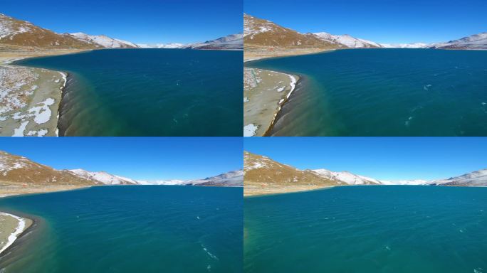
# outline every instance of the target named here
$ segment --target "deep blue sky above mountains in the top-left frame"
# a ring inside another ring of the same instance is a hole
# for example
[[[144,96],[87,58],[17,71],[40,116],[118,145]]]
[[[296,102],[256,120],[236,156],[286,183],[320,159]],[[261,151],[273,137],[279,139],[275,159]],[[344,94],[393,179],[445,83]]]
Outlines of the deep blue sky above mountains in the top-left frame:
[[[134,43],[193,43],[243,31],[242,2],[224,0],[1,0],[0,13],[58,33]]]

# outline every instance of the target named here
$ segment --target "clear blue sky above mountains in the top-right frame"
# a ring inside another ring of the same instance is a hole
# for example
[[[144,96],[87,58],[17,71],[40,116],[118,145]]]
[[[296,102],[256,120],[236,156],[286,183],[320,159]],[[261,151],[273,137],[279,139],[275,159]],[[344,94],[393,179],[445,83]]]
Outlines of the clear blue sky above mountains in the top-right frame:
[[[244,11],[301,33],[378,43],[443,42],[487,31],[486,0],[244,0]]]

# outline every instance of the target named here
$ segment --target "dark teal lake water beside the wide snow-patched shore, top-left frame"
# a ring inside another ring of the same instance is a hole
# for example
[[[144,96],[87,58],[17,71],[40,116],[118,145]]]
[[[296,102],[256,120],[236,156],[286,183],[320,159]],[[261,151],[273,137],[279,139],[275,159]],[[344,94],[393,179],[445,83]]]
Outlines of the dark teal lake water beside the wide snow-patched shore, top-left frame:
[[[241,136],[242,52],[115,49],[16,62],[69,73],[67,136]]]

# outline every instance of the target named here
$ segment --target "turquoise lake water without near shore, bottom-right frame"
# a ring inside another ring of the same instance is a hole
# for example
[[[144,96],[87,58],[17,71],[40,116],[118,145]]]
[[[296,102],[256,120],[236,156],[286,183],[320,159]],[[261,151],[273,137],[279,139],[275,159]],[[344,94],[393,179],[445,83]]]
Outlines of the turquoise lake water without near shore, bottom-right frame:
[[[244,199],[245,272],[487,272],[487,188],[349,186]]]

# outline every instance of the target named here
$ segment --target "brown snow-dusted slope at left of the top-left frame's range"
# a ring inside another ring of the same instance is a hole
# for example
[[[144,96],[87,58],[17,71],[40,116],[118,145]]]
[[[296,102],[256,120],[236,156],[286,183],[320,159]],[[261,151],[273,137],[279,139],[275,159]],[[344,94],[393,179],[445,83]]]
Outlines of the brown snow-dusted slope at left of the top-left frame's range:
[[[28,21],[17,20],[5,14],[0,14],[0,43],[56,48],[100,47],[99,45],[79,41],[67,33],[55,33],[46,28],[35,26]]]

